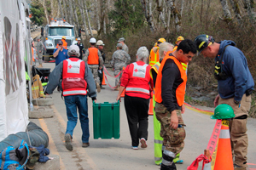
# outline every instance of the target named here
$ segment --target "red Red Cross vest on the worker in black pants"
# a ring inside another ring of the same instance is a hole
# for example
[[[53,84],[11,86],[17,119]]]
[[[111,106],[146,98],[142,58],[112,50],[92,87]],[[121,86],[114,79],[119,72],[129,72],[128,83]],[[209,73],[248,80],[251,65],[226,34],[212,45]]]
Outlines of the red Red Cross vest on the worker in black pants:
[[[139,64],[139,65],[138,65]],[[131,63],[128,68],[129,82],[125,89],[125,94],[132,97],[140,97],[144,99],[150,98],[150,75],[151,66],[137,61]]]

